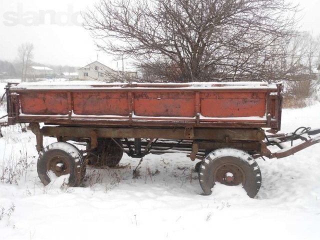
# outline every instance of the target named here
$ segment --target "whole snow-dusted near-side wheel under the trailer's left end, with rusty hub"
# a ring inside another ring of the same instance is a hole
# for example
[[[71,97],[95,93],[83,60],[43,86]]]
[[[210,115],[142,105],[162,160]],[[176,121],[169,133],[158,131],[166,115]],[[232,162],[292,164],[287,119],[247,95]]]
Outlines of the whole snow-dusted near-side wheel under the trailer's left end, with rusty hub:
[[[40,152],[37,160],[38,176],[44,185],[51,181],[50,171],[57,177],[70,174],[68,185],[78,186],[83,181],[85,162],[80,151],[72,144],[54,142]]]

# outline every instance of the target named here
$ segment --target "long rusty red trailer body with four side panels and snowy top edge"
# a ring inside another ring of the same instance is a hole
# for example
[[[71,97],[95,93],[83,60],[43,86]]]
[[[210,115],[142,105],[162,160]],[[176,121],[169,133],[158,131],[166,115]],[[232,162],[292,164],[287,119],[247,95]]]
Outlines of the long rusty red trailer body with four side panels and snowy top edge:
[[[10,87],[13,122],[280,127],[280,87],[267,83]]]

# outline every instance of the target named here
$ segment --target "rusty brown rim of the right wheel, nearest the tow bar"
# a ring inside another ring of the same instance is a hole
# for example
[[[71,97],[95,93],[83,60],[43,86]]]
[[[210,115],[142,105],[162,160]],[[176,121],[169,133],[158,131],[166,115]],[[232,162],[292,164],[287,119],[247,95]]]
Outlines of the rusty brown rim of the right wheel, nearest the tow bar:
[[[222,163],[213,172],[214,182],[220,182],[228,186],[245,183],[245,174],[241,167],[234,163]]]

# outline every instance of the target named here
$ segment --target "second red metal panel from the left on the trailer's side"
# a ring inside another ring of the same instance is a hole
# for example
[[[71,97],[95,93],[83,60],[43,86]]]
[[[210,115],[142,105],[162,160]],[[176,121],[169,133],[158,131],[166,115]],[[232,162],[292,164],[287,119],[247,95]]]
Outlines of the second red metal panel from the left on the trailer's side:
[[[73,112],[80,115],[129,114],[127,92],[74,92]]]

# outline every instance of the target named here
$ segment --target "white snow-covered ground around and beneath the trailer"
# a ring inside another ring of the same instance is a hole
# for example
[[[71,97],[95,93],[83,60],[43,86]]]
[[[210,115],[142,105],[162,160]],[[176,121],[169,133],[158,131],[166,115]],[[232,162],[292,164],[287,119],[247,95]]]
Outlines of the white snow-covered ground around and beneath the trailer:
[[[319,102],[283,110],[281,132],[299,126],[320,127]],[[320,239],[320,144],[257,159],[262,186],[252,199],[221,184],[200,195],[195,162],[181,153],[147,155],[138,179],[139,159],[124,155],[119,168],[88,167],[85,187],[61,186],[61,177],[44,187],[33,133],[2,133],[0,179],[12,184],[0,180],[0,239]],[[5,166],[17,161],[19,176],[9,176]]]

